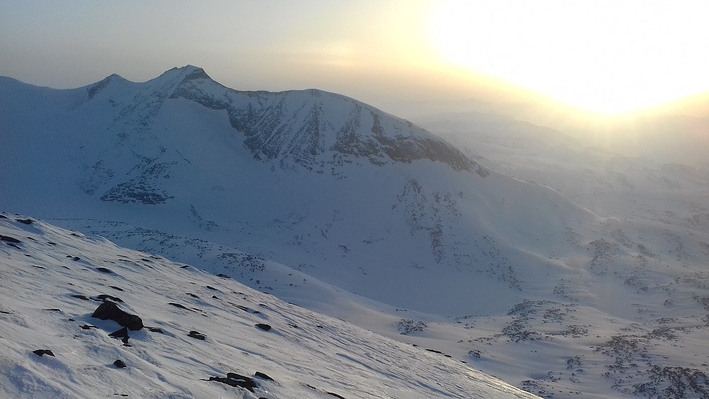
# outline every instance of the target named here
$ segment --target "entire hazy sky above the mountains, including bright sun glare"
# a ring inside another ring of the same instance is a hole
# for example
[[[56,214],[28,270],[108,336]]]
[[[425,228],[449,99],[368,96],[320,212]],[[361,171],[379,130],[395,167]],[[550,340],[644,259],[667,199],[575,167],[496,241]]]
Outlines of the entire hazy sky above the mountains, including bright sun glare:
[[[523,99],[601,111],[709,90],[709,1],[0,0],[0,75],[69,88],[197,65],[234,89],[377,106]]]

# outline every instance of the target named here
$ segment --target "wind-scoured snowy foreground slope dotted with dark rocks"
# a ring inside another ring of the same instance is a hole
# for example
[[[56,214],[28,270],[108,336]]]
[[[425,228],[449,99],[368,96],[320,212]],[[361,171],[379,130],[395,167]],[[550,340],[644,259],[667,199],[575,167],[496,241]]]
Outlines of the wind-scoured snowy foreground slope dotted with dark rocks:
[[[101,237],[9,215],[0,235],[2,398],[534,398],[459,361]],[[119,324],[92,317],[102,294],[161,332],[129,331],[128,345],[109,337]],[[188,337],[193,330],[205,339]],[[253,393],[209,381],[227,373],[253,378]]]

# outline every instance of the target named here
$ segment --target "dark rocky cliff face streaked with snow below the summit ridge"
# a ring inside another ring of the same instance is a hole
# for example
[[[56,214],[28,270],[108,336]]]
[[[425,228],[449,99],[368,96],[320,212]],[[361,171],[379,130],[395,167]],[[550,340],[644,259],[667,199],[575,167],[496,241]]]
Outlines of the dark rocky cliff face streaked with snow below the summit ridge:
[[[201,70],[185,75],[169,98],[227,110],[244,134],[244,146],[259,160],[318,165],[364,158],[374,165],[431,160],[485,177],[485,168],[443,139],[354,99],[310,89],[291,92],[237,92]]]

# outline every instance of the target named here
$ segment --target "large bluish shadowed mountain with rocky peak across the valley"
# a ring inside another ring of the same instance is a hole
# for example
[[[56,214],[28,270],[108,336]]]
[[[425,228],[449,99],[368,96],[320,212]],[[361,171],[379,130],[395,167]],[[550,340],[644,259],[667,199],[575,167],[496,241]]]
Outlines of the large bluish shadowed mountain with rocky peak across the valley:
[[[161,253],[166,235],[238,248],[391,305],[507,310],[536,285],[521,274],[547,267],[529,237],[566,241],[591,217],[337,94],[237,92],[191,66],[72,90],[5,79],[2,91],[1,182],[23,187],[2,193],[6,209],[91,219],[77,223]],[[238,270],[232,253],[166,254],[220,273]],[[392,291],[401,278],[408,289]]]

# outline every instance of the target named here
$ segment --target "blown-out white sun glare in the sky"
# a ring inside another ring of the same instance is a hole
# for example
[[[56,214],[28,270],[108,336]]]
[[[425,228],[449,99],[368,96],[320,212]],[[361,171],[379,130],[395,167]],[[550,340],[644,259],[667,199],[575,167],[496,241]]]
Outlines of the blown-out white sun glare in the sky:
[[[440,58],[616,114],[709,90],[709,1],[435,1]]]

